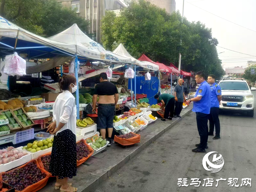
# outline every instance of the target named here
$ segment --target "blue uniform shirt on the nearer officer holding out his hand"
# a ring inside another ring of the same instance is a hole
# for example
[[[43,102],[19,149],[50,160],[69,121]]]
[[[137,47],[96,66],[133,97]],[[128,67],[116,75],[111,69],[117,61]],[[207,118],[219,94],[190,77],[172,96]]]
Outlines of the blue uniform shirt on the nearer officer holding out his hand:
[[[204,114],[210,114],[211,109],[211,88],[210,85],[204,81],[199,84],[198,90],[196,90],[195,97],[202,96],[200,101],[193,103],[193,112],[201,112]]]

